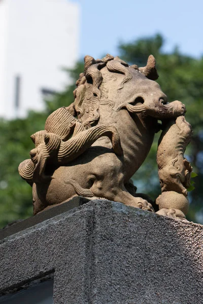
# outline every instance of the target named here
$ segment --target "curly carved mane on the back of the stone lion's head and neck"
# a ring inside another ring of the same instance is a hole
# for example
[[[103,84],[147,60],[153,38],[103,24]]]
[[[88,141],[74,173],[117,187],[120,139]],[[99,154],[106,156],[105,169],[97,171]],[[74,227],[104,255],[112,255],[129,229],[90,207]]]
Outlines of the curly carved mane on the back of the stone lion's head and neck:
[[[101,84],[107,82],[109,79],[114,79],[114,75],[101,74],[100,70],[103,67],[107,67],[109,72],[120,73],[124,75],[118,89],[122,89],[123,85],[132,78],[129,72],[129,65],[121,60],[118,56],[113,57],[107,54],[103,59],[95,60],[91,56],[85,56],[84,58],[84,72],[80,74],[79,79],[76,82],[77,89],[74,91],[75,101],[67,107],[74,116],[78,116],[78,120],[81,122],[94,124],[99,119],[99,105],[107,105],[111,111],[114,107],[114,102],[108,99],[108,92],[102,88]],[[136,65],[131,66],[138,69]]]

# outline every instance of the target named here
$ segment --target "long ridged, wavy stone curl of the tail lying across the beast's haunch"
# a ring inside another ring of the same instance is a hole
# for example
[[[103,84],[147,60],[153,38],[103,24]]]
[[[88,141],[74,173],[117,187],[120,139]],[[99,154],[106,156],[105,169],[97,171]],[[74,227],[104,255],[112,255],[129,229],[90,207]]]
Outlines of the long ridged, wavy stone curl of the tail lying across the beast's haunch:
[[[120,136],[114,126],[99,125],[86,129],[87,127],[79,122],[72,122],[71,129],[75,130],[67,141],[62,141],[56,134],[46,131],[33,134],[32,139],[36,143],[36,148],[30,151],[31,160],[25,160],[19,165],[20,176],[31,183],[35,174],[35,182],[41,182],[41,179],[46,178],[44,172],[48,159],[51,159],[52,165],[66,165],[104,136],[110,138],[115,154],[122,155]]]

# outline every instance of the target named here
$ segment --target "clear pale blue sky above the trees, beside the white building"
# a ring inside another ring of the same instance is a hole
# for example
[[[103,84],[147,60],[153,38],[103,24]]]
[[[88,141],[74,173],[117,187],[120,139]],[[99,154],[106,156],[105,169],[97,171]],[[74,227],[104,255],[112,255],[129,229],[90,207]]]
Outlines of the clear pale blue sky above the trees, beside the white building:
[[[81,6],[80,57],[118,55],[119,42],[157,32],[164,50],[176,45],[182,53],[203,55],[202,0],[75,0]]]

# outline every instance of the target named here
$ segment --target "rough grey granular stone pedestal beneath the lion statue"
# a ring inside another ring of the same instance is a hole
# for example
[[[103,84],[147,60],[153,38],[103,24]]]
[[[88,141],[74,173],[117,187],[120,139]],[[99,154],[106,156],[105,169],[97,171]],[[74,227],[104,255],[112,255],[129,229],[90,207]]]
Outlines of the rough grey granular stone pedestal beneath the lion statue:
[[[95,200],[2,241],[0,289],[54,271],[55,304],[199,304],[202,241],[199,224]]]

